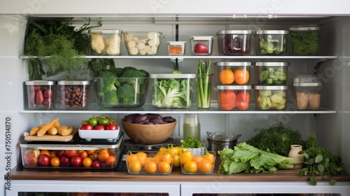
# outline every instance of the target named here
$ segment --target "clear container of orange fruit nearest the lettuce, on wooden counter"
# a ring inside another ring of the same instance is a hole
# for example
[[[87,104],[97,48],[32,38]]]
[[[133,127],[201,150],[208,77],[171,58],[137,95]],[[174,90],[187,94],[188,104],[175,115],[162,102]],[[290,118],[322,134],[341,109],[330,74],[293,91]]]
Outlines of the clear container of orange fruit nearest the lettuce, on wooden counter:
[[[208,175],[214,172],[214,151],[185,151],[180,155],[181,172],[192,175]]]

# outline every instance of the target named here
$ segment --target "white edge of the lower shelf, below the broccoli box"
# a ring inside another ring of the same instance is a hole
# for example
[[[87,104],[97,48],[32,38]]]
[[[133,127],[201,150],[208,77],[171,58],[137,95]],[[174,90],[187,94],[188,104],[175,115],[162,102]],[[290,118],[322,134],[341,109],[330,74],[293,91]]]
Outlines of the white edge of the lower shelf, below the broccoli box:
[[[286,110],[281,111],[265,111],[255,109],[255,105],[251,104],[248,110],[239,111],[224,111],[218,109],[218,104],[212,103],[210,109],[198,109],[197,105],[193,104],[189,109],[155,109],[151,104],[145,104],[139,108],[114,108],[114,109],[103,109],[97,104],[91,104],[88,109],[85,110],[62,110],[59,106],[56,106],[56,110],[38,110],[38,109],[24,109],[19,111],[19,113],[201,113],[201,114],[315,114],[315,113],[337,113],[332,109],[328,109],[321,106],[318,110],[297,110],[293,104],[288,104]]]

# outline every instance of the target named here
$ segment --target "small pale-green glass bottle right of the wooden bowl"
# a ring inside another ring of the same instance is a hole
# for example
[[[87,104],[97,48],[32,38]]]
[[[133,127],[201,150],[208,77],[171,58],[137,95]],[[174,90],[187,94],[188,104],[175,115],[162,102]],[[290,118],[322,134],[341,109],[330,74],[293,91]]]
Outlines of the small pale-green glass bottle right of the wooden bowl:
[[[189,136],[200,140],[200,118],[194,113],[185,114],[183,118],[183,139],[186,140]]]

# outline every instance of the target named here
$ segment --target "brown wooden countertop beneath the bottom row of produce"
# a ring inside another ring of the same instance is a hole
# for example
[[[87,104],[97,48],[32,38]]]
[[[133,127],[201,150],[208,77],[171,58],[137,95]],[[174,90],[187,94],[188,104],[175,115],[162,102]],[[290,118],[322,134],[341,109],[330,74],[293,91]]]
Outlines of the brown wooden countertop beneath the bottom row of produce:
[[[106,170],[66,170],[66,169],[24,169],[22,163],[10,171],[11,180],[55,180],[55,181],[309,181],[309,176],[299,176],[298,170],[279,170],[275,174],[218,174],[218,164],[210,175],[186,175],[181,168],[174,168],[168,175],[129,174],[117,172],[116,169]],[[6,176],[5,176],[6,177]],[[326,181],[321,176],[317,181]],[[350,175],[332,176],[336,181],[350,181]],[[328,179],[329,180],[329,179]]]

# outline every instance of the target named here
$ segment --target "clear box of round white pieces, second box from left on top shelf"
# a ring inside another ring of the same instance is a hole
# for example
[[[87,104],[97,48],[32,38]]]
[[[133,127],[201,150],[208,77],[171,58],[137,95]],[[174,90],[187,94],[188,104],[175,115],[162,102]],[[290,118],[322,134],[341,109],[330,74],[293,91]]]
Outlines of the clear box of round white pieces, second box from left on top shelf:
[[[127,53],[130,56],[154,56],[157,55],[158,49],[163,36],[158,31],[125,31],[124,43]]]

